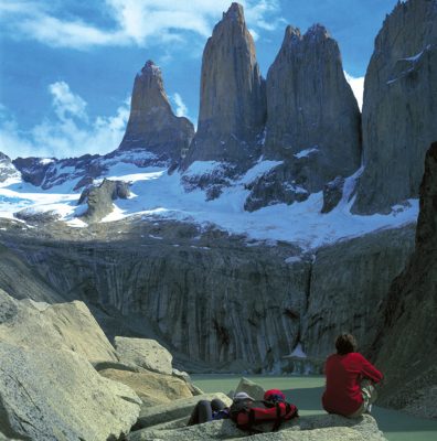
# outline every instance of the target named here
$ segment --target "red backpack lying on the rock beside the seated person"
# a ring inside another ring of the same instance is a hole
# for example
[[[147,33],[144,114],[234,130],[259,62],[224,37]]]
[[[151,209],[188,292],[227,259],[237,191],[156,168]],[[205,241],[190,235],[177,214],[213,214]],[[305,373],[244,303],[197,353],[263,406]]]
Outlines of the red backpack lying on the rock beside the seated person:
[[[278,389],[270,389],[264,394],[263,401],[236,401],[230,409],[230,417],[238,429],[251,432],[265,432],[255,426],[264,422],[274,422],[271,432],[279,429],[283,421],[298,417],[298,408],[286,401],[285,395]]]

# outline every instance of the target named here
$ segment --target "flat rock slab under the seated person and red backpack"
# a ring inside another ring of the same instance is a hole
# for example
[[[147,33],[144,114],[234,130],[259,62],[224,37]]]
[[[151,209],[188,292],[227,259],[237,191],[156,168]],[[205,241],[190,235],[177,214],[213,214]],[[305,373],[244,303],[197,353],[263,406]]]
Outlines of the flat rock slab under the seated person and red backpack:
[[[271,426],[271,424],[270,424]],[[267,428],[265,428],[268,430]],[[129,441],[200,441],[200,440],[284,440],[284,441],[384,441],[376,421],[365,415],[351,420],[333,415],[300,417],[286,422],[278,432],[251,437],[231,420],[207,422],[173,430],[145,429],[129,434]]]

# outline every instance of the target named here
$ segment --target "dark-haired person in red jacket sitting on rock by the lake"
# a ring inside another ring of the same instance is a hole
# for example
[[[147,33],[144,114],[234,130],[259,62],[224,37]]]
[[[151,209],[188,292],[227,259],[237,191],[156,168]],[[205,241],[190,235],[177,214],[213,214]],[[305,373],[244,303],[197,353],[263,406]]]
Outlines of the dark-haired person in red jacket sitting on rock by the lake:
[[[370,413],[376,399],[375,384],[383,375],[356,352],[356,341],[351,334],[341,334],[335,340],[337,354],[327,358],[327,378],[322,405],[327,412],[348,418]]]

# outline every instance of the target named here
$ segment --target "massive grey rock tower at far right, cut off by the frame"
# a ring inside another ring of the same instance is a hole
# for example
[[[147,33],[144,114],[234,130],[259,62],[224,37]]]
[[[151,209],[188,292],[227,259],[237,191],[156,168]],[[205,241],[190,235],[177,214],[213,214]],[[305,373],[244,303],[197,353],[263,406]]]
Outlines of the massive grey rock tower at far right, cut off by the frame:
[[[437,139],[437,1],[398,2],[375,40],[364,84],[365,170],[353,209],[386,212],[418,196]]]

